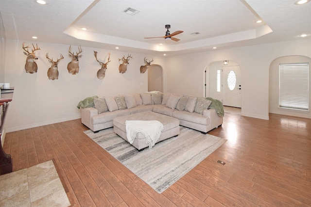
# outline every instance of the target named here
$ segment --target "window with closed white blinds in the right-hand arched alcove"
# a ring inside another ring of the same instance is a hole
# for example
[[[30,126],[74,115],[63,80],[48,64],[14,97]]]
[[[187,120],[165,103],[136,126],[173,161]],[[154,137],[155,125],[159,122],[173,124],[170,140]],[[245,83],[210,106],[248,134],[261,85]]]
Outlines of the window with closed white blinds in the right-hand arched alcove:
[[[309,63],[279,64],[279,107],[309,110]]]

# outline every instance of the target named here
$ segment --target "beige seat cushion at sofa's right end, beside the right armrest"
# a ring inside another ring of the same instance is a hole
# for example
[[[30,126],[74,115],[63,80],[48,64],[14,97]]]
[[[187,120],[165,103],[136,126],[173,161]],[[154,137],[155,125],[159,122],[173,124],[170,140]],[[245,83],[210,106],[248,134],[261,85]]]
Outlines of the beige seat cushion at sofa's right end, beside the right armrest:
[[[189,111],[174,111],[173,117],[179,120],[185,120],[188,122],[193,122],[202,125],[209,125],[209,118],[207,116],[203,116],[199,113],[190,113]]]

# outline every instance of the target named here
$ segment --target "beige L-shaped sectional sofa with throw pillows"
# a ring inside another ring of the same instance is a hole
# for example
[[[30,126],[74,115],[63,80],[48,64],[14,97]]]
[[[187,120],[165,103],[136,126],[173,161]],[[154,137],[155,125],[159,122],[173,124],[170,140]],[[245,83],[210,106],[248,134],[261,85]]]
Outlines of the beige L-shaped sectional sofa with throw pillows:
[[[94,99],[94,107],[81,109],[81,122],[94,133],[113,127],[116,117],[154,111],[179,119],[181,126],[202,133],[223,124],[223,117],[215,109],[207,109],[210,101],[172,93],[142,93],[124,96],[107,96]]]

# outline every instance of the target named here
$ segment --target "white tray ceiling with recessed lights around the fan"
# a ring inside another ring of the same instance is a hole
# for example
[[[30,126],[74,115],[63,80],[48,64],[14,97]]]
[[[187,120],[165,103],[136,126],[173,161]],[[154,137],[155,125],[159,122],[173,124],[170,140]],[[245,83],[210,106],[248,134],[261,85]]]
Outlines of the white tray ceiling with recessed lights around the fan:
[[[311,2],[297,0],[46,1],[1,0],[1,36],[155,55],[296,40],[302,33],[311,38]],[[140,12],[123,13],[128,7]],[[164,36],[166,24],[171,33],[184,31],[174,36],[179,42],[144,39]]]

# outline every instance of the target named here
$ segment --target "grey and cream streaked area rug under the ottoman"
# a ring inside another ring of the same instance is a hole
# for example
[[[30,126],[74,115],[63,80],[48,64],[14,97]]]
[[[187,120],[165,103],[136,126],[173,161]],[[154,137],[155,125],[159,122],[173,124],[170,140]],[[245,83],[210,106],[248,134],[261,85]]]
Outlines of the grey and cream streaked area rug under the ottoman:
[[[180,127],[177,137],[138,150],[113,132],[113,128],[87,136],[118,159],[155,191],[161,193],[226,142],[225,139]]]

